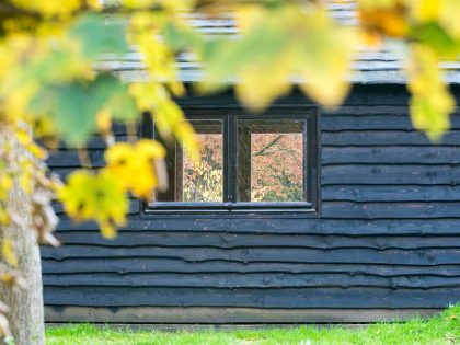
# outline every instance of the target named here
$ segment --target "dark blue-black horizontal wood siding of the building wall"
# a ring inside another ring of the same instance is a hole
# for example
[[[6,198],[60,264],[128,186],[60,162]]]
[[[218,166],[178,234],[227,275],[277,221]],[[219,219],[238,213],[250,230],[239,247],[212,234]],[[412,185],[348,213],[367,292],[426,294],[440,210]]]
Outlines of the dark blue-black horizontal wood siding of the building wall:
[[[223,94],[210,102],[229,100]],[[280,101],[300,102],[307,101],[298,93]],[[433,145],[412,128],[406,103],[401,87],[363,85],[342,108],[322,111],[320,217],[146,218],[133,199],[130,222],[107,241],[93,222],[74,223],[56,205],[65,245],[42,249],[53,320],[59,308],[83,307],[108,308],[115,318],[147,307],[298,312],[459,302],[460,115]],[[116,134],[126,138],[123,127]],[[104,143],[90,142],[92,164],[102,166]],[[61,149],[49,164],[67,176],[80,163],[74,151]]]

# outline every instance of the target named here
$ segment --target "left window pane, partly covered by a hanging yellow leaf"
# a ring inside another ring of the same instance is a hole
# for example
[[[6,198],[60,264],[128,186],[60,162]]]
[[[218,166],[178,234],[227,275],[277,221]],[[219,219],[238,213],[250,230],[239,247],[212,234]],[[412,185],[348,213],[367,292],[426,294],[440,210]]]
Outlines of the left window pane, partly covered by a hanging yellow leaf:
[[[159,194],[158,200],[221,203],[223,200],[222,122],[192,119],[191,124],[200,143],[200,161],[194,163],[186,150],[179,146],[175,150],[169,149],[166,165],[170,191]]]

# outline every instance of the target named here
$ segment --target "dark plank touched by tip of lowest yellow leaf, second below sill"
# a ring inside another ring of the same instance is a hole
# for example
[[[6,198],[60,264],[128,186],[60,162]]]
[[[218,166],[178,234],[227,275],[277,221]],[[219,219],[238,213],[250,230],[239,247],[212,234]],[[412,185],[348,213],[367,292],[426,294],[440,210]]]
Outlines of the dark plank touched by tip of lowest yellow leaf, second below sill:
[[[172,248],[218,248],[218,249],[255,249],[255,248],[309,248],[309,249],[434,249],[459,248],[460,233],[449,237],[417,235],[326,235],[326,234],[235,234],[207,232],[197,235],[193,232],[170,231],[126,231],[116,239],[106,240],[96,231],[69,231],[57,233],[66,245],[100,245],[107,248],[137,248],[142,245]],[[59,250],[59,249],[58,249]]]

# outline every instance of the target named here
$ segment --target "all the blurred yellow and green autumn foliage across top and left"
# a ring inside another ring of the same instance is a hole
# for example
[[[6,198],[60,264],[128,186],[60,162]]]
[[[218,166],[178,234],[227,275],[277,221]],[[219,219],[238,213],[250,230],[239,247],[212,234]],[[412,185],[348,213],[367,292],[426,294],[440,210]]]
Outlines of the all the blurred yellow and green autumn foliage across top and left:
[[[175,61],[182,51],[192,53],[203,66],[197,91],[234,84],[244,105],[262,110],[294,85],[322,105],[340,105],[349,90],[356,53],[390,43],[404,56],[401,72],[411,93],[414,126],[439,139],[456,106],[439,66],[460,51],[460,2],[357,0],[352,26],[330,16],[330,2],[0,2],[0,122],[13,136],[0,148],[0,205],[19,186],[34,200],[27,227],[45,242],[56,244],[56,197],[71,218],[95,220],[103,235],[114,237],[116,227],[126,222],[129,195],[150,200],[156,188],[166,186],[164,148],[154,140],[136,140],[141,114],[152,116],[164,141],[177,140],[192,161],[198,161],[199,141],[175,102],[186,92]],[[335,5],[341,2],[355,3]],[[238,34],[198,32],[189,21],[196,12],[205,20],[232,18]],[[143,81],[128,83],[97,67],[103,56],[122,57],[131,49],[142,57]],[[129,142],[115,142],[114,122],[126,126]],[[47,150],[61,142],[77,148],[89,166],[84,146],[94,133],[106,140],[106,166],[76,171],[65,183],[49,173]],[[13,154],[13,143],[27,154]],[[2,257],[10,268],[18,262],[15,243],[4,234],[18,221],[14,210],[0,207]]]

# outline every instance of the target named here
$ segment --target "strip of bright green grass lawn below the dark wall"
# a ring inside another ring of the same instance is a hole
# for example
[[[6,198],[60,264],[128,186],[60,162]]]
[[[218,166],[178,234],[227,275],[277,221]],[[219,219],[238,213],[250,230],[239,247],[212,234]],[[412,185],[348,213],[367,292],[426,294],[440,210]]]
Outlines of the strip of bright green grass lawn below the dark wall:
[[[300,326],[255,331],[126,331],[90,324],[48,327],[46,344],[460,344],[460,306],[438,317],[363,329]]]

